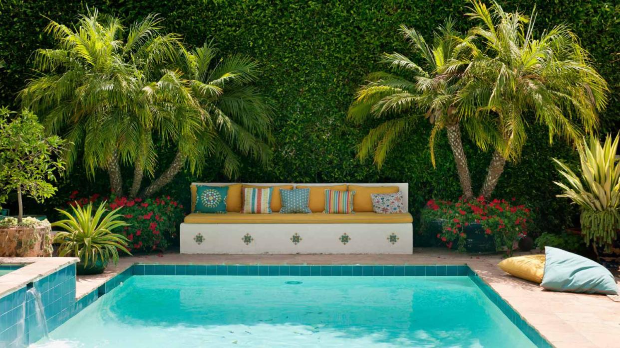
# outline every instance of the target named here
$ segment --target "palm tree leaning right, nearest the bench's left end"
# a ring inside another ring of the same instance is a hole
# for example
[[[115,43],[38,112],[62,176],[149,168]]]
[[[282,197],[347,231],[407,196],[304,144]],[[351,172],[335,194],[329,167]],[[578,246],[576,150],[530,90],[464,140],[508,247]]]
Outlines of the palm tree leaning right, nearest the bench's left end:
[[[240,55],[217,59],[217,53],[210,43],[181,52],[180,71],[192,103],[200,109],[202,126],[193,129],[192,136],[180,138],[169,168],[146,188],[144,195],[167,184],[185,161],[192,170],[203,168],[205,154],[221,159],[224,174],[229,177],[239,174],[237,153],[261,164],[272,155],[272,108],[252,86],[258,79],[257,62]]]

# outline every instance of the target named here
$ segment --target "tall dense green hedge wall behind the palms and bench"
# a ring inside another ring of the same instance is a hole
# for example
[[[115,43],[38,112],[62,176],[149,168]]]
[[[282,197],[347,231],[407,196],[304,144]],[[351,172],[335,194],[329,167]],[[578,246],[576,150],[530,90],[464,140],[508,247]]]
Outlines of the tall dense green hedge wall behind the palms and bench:
[[[620,128],[620,56],[613,53],[620,41],[620,4],[600,0],[510,0],[501,1],[508,9],[530,12],[536,5],[542,30],[569,23],[590,50],[601,74],[611,87],[611,101],[602,118],[604,132]],[[409,182],[412,213],[430,197],[455,198],[459,195],[453,160],[445,139],[438,146],[438,167],[433,169],[428,155],[428,125],[419,128],[397,148],[386,167],[377,171],[369,163],[355,159],[355,145],[368,125],[355,127],[345,121],[353,91],[368,72],[381,69],[378,56],[384,51],[407,53],[397,33],[401,23],[430,35],[433,28],[451,15],[458,27],[471,23],[464,17],[467,1],[427,0],[4,0],[0,1],[0,104],[14,103],[15,93],[32,74],[32,51],[48,47],[43,33],[48,17],[72,22],[86,7],[126,18],[125,23],[149,12],[166,18],[167,29],[185,35],[190,45],[215,38],[224,54],[245,53],[262,64],[260,85],[272,98],[277,115],[277,147],[268,168],[247,163],[239,180],[250,182]],[[479,187],[489,155],[478,153],[466,143],[474,181]],[[518,197],[539,209],[542,231],[557,231],[574,223],[575,210],[555,197],[558,179],[549,158],[574,161],[573,151],[563,143],[549,146],[544,129],[533,125],[523,158],[508,166],[496,191],[497,197]],[[161,149],[161,158],[170,150]],[[187,200],[187,184],[192,180],[223,179],[214,163],[200,178],[183,174],[167,188]],[[107,190],[107,177],[86,180],[78,168],[61,182],[57,198],[40,207],[51,207],[66,200],[78,189],[93,193]],[[31,210],[36,208],[31,208]]]

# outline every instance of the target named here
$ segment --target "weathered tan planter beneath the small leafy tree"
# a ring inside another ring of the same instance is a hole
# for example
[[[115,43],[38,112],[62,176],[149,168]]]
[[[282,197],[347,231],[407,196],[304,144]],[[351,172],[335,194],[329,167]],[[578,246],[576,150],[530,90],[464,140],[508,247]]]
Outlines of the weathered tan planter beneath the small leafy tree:
[[[0,229],[0,257],[51,257],[51,226],[16,226]]]

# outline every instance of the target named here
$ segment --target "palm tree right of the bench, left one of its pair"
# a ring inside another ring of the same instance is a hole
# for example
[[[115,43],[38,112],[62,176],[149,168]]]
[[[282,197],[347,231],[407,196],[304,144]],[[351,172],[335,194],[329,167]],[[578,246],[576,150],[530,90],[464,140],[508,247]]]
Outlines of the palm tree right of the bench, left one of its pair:
[[[358,146],[358,157],[365,159],[373,155],[374,163],[381,168],[387,153],[396,142],[412,131],[417,121],[424,116],[433,124],[430,134],[433,166],[435,137],[446,129],[463,198],[469,200],[474,195],[461,142],[461,119],[455,100],[462,71],[449,63],[463,61],[476,54],[476,47],[472,44],[474,37],[461,36],[454,30],[450,19],[436,30],[432,46],[412,28],[401,25],[401,33],[412,44],[423,64],[418,65],[403,54],[384,53],[383,62],[389,64],[393,72],[368,75],[368,82],[359,88],[349,108],[348,119],[358,124],[372,118],[387,120],[371,129],[362,140]],[[417,108],[423,108],[423,111]],[[397,117],[392,117],[394,115]]]

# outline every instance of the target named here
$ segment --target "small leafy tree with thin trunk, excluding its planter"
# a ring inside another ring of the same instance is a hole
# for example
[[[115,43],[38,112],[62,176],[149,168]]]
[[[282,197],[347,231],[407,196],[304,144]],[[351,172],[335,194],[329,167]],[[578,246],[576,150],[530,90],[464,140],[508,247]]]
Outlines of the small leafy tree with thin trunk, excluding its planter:
[[[50,181],[56,180],[55,171],[64,169],[60,159],[63,143],[56,135],[46,136],[37,116],[24,111],[11,120],[7,108],[0,108],[0,203],[6,202],[9,192],[17,191],[22,223],[24,206],[22,196],[42,202],[56,192]]]

